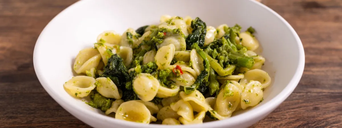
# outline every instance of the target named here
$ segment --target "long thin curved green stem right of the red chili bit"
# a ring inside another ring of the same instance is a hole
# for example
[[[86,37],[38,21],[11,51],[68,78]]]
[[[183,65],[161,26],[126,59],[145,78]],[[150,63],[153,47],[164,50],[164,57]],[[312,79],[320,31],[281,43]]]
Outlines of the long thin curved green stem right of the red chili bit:
[[[199,48],[197,43],[194,43],[191,47],[192,47],[192,49],[196,49],[199,56],[204,60],[203,61],[204,70],[202,70],[201,73],[198,75],[198,77],[197,77],[197,79],[193,85],[184,87],[185,94],[190,94],[190,93],[194,92],[196,89],[198,89],[199,85],[203,81],[205,81],[205,80],[208,81],[209,70],[210,70],[210,63],[209,63],[209,59],[207,58],[206,53],[201,48]]]

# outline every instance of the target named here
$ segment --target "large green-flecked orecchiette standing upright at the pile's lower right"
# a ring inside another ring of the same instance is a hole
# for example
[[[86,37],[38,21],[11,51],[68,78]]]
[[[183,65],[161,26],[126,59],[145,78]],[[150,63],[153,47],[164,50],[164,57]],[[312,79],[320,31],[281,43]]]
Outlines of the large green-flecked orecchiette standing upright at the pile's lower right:
[[[220,115],[231,115],[240,103],[240,87],[232,83],[226,84],[217,96],[215,111]]]

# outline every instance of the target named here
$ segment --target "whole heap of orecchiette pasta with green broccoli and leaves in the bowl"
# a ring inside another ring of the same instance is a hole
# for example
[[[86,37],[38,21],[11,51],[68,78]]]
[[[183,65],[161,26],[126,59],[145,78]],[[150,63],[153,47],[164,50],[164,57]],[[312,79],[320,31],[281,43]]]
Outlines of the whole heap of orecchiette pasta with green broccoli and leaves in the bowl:
[[[75,59],[64,84],[75,97],[116,119],[166,125],[222,120],[258,105],[271,83],[261,70],[250,27],[207,26],[200,18],[164,15],[158,25],[105,31]]]

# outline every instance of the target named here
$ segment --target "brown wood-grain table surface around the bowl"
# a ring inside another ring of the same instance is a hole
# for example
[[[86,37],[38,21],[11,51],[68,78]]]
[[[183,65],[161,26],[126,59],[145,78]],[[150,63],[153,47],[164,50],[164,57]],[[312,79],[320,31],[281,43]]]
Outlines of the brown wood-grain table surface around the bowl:
[[[77,0],[0,0],[0,127],[88,128],[39,83],[33,50],[47,23]],[[265,0],[297,31],[302,79],[271,114],[251,126],[342,127],[342,0]]]

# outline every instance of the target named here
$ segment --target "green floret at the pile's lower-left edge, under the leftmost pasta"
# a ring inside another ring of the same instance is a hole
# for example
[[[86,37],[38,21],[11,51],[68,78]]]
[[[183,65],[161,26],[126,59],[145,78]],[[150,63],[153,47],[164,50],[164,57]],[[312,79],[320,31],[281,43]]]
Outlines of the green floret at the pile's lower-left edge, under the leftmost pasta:
[[[91,101],[86,102],[87,105],[106,111],[110,108],[112,100],[102,96],[100,93],[94,92],[90,94]]]

